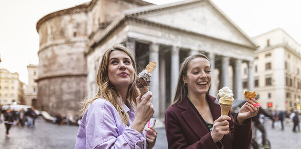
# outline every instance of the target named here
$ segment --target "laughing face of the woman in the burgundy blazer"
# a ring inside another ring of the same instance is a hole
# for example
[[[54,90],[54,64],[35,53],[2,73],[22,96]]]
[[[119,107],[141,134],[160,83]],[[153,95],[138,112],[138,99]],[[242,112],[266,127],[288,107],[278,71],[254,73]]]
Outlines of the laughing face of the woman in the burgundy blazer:
[[[190,61],[186,76],[183,77],[187,83],[189,93],[204,94],[208,92],[211,84],[210,63],[207,59],[197,57]]]

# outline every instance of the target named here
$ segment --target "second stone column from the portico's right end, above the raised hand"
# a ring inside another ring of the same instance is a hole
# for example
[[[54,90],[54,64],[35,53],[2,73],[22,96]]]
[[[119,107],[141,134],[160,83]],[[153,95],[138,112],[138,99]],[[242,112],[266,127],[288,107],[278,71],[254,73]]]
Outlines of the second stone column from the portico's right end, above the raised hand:
[[[234,68],[234,98],[235,99],[244,99],[242,96],[242,80],[241,80],[241,60],[235,59],[235,68]]]

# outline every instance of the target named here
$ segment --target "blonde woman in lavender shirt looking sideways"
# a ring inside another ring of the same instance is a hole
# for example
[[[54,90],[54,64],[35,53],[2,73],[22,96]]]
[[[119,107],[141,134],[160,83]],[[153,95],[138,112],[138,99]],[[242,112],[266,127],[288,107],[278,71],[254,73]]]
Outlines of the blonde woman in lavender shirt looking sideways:
[[[97,73],[97,95],[84,100],[75,148],[152,148],[157,131],[144,126],[154,114],[152,93],[139,95],[136,63],[123,45],[109,48]]]

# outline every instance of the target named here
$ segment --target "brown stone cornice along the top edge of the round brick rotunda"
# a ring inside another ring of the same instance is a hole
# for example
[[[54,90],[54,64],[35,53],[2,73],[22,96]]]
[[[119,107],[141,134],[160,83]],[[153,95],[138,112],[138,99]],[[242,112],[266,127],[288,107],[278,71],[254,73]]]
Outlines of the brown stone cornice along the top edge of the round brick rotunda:
[[[77,5],[75,7],[72,8],[68,8],[68,9],[64,9],[64,10],[60,10],[60,11],[56,11],[53,13],[50,13],[44,17],[42,17],[38,22],[37,22],[37,26],[36,29],[37,31],[39,31],[40,26],[47,20],[50,20],[54,17],[58,17],[58,16],[62,16],[62,15],[66,15],[66,14],[75,14],[75,13],[81,13],[81,12],[89,12],[93,9],[93,7],[95,6],[95,4],[97,3],[98,0],[92,0],[89,4],[81,4],[81,5]],[[131,3],[136,3],[138,5],[144,6],[144,5],[150,5],[152,3],[146,2],[146,1],[141,1],[141,0],[124,0],[127,2],[131,2]]]

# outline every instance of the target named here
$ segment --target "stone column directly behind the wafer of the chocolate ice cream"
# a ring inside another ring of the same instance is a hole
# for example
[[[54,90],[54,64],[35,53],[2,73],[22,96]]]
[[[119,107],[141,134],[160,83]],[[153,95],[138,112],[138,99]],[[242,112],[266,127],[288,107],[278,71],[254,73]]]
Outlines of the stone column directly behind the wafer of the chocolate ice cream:
[[[153,93],[153,107],[155,109],[153,117],[159,118],[159,44],[150,44],[149,53],[149,60],[157,62],[157,67],[152,72],[152,81],[150,82],[149,90]]]

